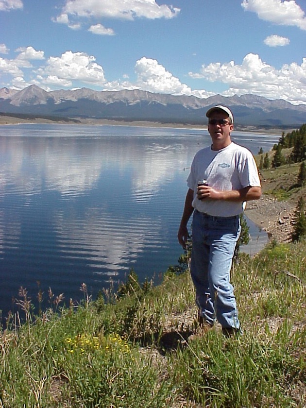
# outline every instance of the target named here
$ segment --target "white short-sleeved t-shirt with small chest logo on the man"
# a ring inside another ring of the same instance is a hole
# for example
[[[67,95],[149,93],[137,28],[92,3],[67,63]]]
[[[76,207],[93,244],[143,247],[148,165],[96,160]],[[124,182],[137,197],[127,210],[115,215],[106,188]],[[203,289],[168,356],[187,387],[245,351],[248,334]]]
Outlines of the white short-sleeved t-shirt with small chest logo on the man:
[[[201,179],[206,179],[208,186],[219,191],[261,185],[252,153],[234,142],[221,150],[211,150],[209,146],[196,153],[187,186],[194,191],[192,206],[200,212],[216,217],[231,217],[244,210],[245,202],[198,200],[196,192],[198,180]]]

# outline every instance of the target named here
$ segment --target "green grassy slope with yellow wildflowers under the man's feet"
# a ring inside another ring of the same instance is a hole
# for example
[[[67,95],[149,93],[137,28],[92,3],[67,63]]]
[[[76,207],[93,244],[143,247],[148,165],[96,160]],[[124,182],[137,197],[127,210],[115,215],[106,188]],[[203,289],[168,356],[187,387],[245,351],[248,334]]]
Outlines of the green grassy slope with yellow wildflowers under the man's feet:
[[[79,307],[11,320],[0,337],[0,407],[306,406],[306,242],[241,254],[232,271],[243,333],[194,328],[183,264],[163,283],[131,273]],[[182,273],[175,273],[182,272]],[[107,300],[107,301],[106,301]]]

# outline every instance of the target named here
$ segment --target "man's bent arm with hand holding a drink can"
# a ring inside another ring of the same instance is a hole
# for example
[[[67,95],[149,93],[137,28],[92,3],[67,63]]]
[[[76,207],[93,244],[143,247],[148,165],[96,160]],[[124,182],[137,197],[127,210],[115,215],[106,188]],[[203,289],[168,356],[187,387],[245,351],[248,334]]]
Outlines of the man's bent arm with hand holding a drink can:
[[[200,186],[197,192],[199,200],[209,198],[223,201],[250,201],[258,200],[261,196],[261,187],[244,187],[239,190],[217,191],[213,187]]]

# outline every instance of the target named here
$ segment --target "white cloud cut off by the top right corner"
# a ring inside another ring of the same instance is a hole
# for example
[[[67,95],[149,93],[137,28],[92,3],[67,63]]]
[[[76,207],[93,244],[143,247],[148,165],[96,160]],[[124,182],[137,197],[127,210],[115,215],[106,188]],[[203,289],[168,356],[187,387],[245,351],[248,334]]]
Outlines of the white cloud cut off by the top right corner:
[[[305,13],[294,0],[243,0],[241,6],[262,20],[306,30]]]

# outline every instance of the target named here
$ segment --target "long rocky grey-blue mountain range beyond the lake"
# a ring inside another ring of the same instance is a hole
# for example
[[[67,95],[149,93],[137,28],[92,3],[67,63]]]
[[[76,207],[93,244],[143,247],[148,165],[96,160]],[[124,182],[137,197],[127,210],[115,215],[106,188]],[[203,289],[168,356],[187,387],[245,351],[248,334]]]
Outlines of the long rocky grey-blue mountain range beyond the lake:
[[[306,105],[293,105],[252,94],[200,99],[138,89],[95,91],[81,88],[47,92],[36,85],[20,91],[0,88],[2,114],[202,124],[207,122],[207,109],[219,104],[233,111],[235,125],[299,127],[306,123]]]

